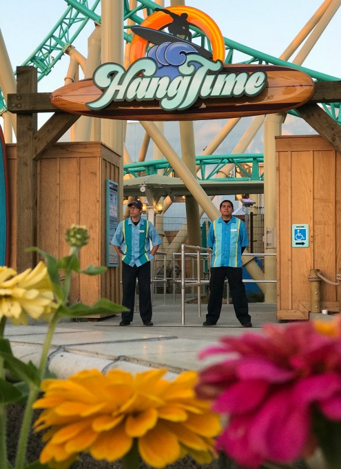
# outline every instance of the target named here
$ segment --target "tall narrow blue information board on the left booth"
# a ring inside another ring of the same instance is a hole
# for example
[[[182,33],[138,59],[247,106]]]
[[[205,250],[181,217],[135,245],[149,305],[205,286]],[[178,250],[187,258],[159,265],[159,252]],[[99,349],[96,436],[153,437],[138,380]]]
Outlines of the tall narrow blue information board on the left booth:
[[[118,266],[118,254],[111,241],[118,226],[118,184],[107,179],[107,267]]]

